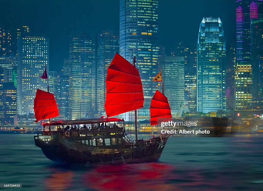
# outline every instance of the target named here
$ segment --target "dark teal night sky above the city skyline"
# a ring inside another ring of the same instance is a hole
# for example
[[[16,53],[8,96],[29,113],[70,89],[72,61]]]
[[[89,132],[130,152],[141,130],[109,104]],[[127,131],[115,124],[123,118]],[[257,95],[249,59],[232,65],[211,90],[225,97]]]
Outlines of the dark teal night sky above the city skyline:
[[[221,18],[227,46],[235,44],[235,8],[235,0],[159,0],[160,45],[170,52],[179,41],[197,43],[200,22],[210,16]],[[49,36],[50,71],[59,71],[71,32],[119,30],[119,0],[2,0],[0,18],[5,29],[26,25]]]

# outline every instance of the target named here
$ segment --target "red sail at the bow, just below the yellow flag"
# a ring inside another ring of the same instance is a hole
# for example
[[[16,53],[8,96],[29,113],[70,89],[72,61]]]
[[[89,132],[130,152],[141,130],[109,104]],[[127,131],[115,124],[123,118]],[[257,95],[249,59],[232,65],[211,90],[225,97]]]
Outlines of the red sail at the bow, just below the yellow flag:
[[[156,90],[150,107],[151,125],[160,124],[162,121],[171,121],[171,108],[168,99]]]

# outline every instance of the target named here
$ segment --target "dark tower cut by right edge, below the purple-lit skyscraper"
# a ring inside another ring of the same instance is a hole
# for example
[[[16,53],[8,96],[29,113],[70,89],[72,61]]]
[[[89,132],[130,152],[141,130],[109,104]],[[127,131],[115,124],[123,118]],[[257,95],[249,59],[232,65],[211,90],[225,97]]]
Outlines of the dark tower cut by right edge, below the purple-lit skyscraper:
[[[251,25],[252,97],[255,106],[263,105],[263,17]]]

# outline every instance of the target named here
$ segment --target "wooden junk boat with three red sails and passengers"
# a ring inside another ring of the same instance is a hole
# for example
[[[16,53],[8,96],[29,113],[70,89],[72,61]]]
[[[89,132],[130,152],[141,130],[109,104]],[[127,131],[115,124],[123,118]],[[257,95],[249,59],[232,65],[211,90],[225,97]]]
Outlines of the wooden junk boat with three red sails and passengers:
[[[102,116],[100,119],[49,120],[49,123],[43,125],[44,131],[34,136],[34,140],[47,158],[58,163],[103,164],[153,162],[159,159],[169,136],[159,135],[138,140],[136,109],[143,107],[144,97],[135,62],[135,57],[133,65],[116,54],[108,68],[105,101],[107,118]],[[154,97],[152,108],[154,110],[158,107],[161,111],[164,108],[165,114],[160,112],[160,117],[163,117],[169,113],[169,104],[163,104],[160,96],[164,95],[160,94]],[[37,121],[59,115],[54,95],[41,90],[37,90],[34,109]],[[132,110],[135,110],[135,140],[129,139],[125,134],[123,119],[110,118]],[[154,112],[154,119],[157,117],[158,114]],[[156,120],[154,124],[157,124]],[[70,126],[72,128],[69,129]]]

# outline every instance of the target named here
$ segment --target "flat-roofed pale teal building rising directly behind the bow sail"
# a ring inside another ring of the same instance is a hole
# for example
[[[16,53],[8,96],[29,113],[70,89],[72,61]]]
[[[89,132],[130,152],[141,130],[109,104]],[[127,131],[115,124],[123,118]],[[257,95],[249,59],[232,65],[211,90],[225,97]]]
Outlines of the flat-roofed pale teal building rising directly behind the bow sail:
[[[184,56],[160,58],[164,95],[168,98],[171,110],[183,110],[184,107],[184,65]]]

